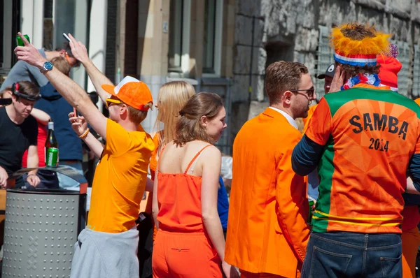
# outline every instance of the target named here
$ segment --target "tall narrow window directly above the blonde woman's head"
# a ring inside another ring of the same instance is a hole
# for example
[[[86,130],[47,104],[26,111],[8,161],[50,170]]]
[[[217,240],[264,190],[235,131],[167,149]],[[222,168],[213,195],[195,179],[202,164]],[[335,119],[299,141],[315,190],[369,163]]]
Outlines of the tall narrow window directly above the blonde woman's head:
[[[190,59],[190,7],[191,0],[171,0],[169,6],[169,72],[188,72]]]

